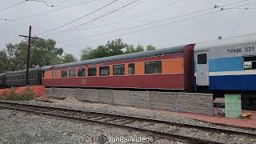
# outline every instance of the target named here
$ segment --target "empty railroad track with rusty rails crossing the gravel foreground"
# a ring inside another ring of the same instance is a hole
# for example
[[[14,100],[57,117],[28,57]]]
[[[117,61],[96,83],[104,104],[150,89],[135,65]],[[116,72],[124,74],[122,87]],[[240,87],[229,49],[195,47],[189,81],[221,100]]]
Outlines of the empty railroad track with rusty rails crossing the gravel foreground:
[[[191,125],[186,123],[178,123],[178,122],[166,122],[157,119],[151,118],[139,118],[132,117],[126,115],[119,114],[106,114],[92,111],[84,111],[84,110],[72,110],[66,109],[62,107],[51,107],[51,106],[38,106],[38,105],[30,105],[30,104],[22,104],[17,102],[0,102],[0,108],[11,109],[11,110],[22,110],[35,114],[44,114],[61,118],[69,118],[73,120],[79,120],[82,122],[94,122],[99,124],[104,124],[108,126],[115,126],[119,128],[139,131],[145,134],[153,135],[157,138],[166,138],[166,139],[176,139],[178,141],[190,142],[190,143],[222,143],[222,142],[214,142],[206,139],[200,138],[192,138],[186,135],[174,134],[174,133],[166,133],[158,130],[150,130],[146,129],[147,126],[133,126],[135,122],[148,122],[150,126],[155,124],[165,124],[168,126],[178,126],[183,128],[193,128],[197,130],[204,130],[207,132],[213,133],[224,133],[224,134],[238,134],[244,135],[247,137],[256,138],[255,133],[250,133],[246,131],[236,131],[236,130],[227,130],[220,129],[209,126],[198,126]]]

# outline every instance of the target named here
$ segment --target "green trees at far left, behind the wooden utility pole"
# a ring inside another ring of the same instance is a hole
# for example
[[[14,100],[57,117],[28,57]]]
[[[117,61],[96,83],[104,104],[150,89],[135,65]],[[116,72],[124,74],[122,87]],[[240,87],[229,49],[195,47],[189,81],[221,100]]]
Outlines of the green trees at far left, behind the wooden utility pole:
[[[63,54],[64,50],[55,46],[52,39],[32,39],[30,49],[30,67],[50,66],[63,62],[75,62],[72,54]],[[8,43],[0,51],[0,71],[22,70],[26,68],[27,43]]]

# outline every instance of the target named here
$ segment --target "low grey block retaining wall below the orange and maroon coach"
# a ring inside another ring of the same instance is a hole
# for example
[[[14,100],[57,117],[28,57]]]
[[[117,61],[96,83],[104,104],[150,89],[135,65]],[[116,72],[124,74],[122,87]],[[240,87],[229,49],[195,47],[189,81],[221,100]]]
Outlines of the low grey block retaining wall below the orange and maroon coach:
[[[46,88],[46,98],[77,98],[83,102],[102,102],[151,109],[213,115],[213,95],[127,90]]]

